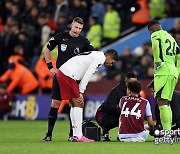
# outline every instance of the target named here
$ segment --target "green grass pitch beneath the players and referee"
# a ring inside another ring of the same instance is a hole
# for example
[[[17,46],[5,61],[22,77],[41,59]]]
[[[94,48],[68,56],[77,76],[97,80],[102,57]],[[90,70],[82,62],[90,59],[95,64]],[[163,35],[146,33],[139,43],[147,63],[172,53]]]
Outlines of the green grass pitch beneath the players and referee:
[[[68,142],[68,121],[57,121],[53,141],[41,142],[47,121],[0,121],[0,154],[178,154],[180,144],[155,145],[152,137],[145,143],[116,141],[117,129],[113,129],[111,142]]]

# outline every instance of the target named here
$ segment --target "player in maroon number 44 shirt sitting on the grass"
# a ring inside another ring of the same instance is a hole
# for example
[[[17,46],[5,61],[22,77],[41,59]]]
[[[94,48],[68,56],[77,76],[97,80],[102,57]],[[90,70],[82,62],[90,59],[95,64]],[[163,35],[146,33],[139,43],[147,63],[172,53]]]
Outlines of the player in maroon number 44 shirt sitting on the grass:
[[[123,142],[144,142],[149,131],[144,129],[144,117],[147,117],[149,130],[153,132],[154,123],[149,101],[139,97],[141,84],[130,81],[127,95],[121,98],[119,118],[119,140]]]

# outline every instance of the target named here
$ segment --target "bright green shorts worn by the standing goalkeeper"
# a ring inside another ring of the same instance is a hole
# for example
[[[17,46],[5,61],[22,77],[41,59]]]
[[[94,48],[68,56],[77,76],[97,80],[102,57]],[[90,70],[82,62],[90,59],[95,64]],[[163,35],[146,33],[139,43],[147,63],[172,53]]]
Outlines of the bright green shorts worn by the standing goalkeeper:
[[[172,75],[156,75],[154,77],[154,98],[171,101],[177,81],[177,78]]]

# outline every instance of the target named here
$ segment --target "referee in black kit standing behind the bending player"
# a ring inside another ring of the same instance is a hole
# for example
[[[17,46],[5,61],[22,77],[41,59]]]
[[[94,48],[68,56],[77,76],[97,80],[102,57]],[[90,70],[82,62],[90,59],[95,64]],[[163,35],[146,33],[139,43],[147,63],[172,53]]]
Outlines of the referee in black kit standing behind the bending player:
[[[71,30],[52,37],[44,51],[45,60],[51,73],[54,75],[62,64],[70,58],[87,51],[93,51],[94,47],[90,45],[89,41],[80,35],[83,28],[83,20],[79,17],[74,18],[71,24]],[[53,68],[51,62],[51,51],[58,46],[58,58],[56,68]],[[56,77],[53,79],[52,86],[52,103],[48,118],[48,132],[43,138],[43,141],[51,141],[53,128],[57,119],[57,111],[61,103],[60,89]],[[71,135],[71,134],[70,134]]]

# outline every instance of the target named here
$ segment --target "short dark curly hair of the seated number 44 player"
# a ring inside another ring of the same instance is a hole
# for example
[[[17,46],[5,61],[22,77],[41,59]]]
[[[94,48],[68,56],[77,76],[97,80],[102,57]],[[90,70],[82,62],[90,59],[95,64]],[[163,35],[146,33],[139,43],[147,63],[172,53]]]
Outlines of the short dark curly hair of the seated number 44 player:
[[[139,94],[142,90],[141,83],[137,80],[128,82],[127,88],[136,94]]]

